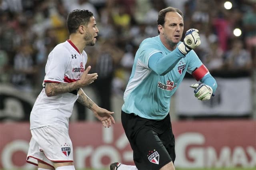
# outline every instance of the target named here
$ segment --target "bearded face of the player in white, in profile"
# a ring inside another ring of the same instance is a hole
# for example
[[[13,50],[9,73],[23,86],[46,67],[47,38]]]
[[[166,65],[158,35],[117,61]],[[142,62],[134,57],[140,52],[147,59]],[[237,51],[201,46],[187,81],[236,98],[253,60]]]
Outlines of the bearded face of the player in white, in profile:
[[[84,36],[84,41],[86,45],[93,46],[96,43],[96,37],[98,36],[98,28],[96,26],[96,21],[94,16],[90,18],[90,22],[87,26],[86,34]]]

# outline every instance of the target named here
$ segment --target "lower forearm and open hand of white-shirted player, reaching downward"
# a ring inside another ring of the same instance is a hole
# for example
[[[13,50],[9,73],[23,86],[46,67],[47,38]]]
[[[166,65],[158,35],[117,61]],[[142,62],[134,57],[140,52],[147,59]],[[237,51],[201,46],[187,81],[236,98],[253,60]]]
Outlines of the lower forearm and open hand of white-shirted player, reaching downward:
[[[106,109],[103,109],[96,105],[85,93],[84,91],[80,88],[78,90],[78,99],[77,101],[81,103],[82,105],[86,106],[88,109],[92,110],[94,113],[95,117],[102,122],[102,125],[104,127],[110,127],[112,124],[115,124],[115,120],[112,117],[112,114],[114,112],[110,112]]]

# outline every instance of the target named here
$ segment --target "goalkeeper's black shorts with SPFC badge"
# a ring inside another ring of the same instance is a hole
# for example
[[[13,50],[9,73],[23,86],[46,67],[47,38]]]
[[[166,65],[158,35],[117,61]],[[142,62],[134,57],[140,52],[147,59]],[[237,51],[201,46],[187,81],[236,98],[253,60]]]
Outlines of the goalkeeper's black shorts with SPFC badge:
[[[122,111],[122,125],[138,170],[159,170],[175,160],[175,140],[170,115],[155,121]]]

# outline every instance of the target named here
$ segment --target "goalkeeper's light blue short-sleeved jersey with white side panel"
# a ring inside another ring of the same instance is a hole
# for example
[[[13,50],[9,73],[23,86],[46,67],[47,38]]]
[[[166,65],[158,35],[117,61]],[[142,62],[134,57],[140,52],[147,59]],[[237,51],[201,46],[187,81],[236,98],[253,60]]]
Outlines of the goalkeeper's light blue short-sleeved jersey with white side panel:
[[[148,67],[149,58],[158,52],[163,57],[171,52],[162,44],[159,36],[147,38],[140,44],[124,91],[122,111],[125,113],[134,113],[146,119],[164,119],[170,110],[171,97],[186,71],[191,74],[196,67],[202,65],[196,53],[191,50],[186,57],[180,59],[174,69],[165,75],[158,75]]]

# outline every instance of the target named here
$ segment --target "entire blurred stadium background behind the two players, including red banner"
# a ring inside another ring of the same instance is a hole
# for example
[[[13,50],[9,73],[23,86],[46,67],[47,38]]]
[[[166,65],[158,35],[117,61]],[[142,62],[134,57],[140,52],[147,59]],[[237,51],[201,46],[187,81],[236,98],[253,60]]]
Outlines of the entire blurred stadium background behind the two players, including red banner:
[[[138,45],[157,35],[158,11],[167,6],[184,12],[184,31],[200,31],[195,51],[218,81],[216,96],[200,102],[186,75],[172,98],[177,169],[255,168],[255,0],[0,0],[0,169],[35,168],[26,163],[30,111],[48,53],[68,39],[66,17],[78,8],[91,10],[100,30],[96,45],[85,49],[99,77],[84,90],[114,111],[117,123],[102,128],[76,103],[70,118],[76,167],[133,164],[120,124],[122,95]]]

